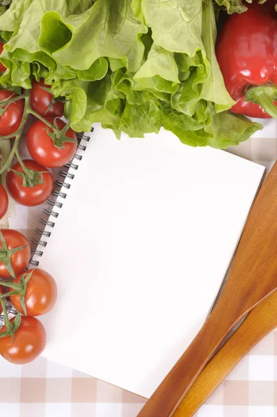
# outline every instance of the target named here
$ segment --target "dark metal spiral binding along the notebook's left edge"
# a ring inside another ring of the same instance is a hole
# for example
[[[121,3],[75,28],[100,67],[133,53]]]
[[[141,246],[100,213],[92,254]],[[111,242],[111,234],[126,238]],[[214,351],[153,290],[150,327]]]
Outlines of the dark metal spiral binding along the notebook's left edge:
[[[90,132],[93,132],[93,128],[91,129]],[[85,136],[84,133],[76,133],[77,134],[77,138],[78,140],[85,140],[86,142],[88,142],[90,140],[90,136]],[[81,143],[78,144],[77,149],[85,152],[86,151],[86,145],[81,145]],[[81,161],[83,158],[82,155],[79,154],[75,154],[74,159],[77,161]],[[72,169],[72,170],[77,170],[79,167],[79,165],[77,165],[74,162],[70,162],[68,164],[65,165],[66,169]],[[53,190],[52,195],[54,195],[54,197],[60,197],[62,199],[65,199],[67,197],[67,193],[64,193],[63,191],[61,191],[61,188],[65,188],[65,190],[69,190],[71,187],[71,184],[68,182],[65,182],[66,179],[70,179],[73,180],[74,179],[74,174],[72,174],[71,172],[68,172],[68,170],[61,170],[58,172],[59,176],[62,177],[63,181],[55,181],[56,186],[59,188],[59,190]],[[54,211],[54,207],[57,208],[62,208],[63,207],[63,203],[61,202],[57,202],[56,199],[52,199],[49,198],[47,199],[47,204],[49,204],[49,208],[44,208],[42,210],[42,213],[44,213],[45,215],[48,216],[48,220],[45,220],[44,218],[40,218],[39,222],[41,224],[43,224],[45,227],[54,227],[55,226],[55,222],[53,222],[52,220],[49,220],[49,218],[58,218],[59,213],[57,211]],[[42,246],[42,247],[46,247],[47,245],[47,240],[44,240],[42,238],[42,236],[45,236],[45,238],[49,238],[51,236],[51,231],[47,231],[45,229],[40,229],[37,228],[35,229],[35,231],[40,235],[40,238],[33,238],[31,239],[31,241],[37,245],[36,249],[31,249],[31,253],[33,255],[36,256],[42,256],[43,255],[43,251],[39,250],[38,247]],[[38,267],[39,265],[39,261],[35,261],[33,259],[31,259],[30,261],[31,265],[35,265],[36,267]]]

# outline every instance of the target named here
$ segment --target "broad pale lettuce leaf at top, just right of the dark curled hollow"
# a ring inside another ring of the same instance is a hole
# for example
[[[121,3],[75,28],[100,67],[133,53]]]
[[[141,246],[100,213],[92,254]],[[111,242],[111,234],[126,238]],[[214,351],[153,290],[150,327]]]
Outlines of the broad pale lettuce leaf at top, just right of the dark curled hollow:
[[[144,53],[140,38],[148,28],[136,17],[130,1],[97,0],[84,15],[86,21],[81,25],[73,16],[63,20],[72,27],[72,39],[54,58],[63,66],[86,70],[97,58],[109,56],[121,59],[131,72],[138,70]]]

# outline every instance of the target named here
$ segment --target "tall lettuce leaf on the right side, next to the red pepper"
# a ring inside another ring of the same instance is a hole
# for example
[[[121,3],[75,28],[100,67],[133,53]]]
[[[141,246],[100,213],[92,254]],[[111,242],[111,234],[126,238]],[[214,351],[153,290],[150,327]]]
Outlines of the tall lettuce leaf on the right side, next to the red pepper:
[[[182,83],[173,94],[171,104],[175,110],[190,116],[196,112],[198,101],[202,99],[213,101],[216,111],[228,110],[235,101],[225,89],[216,60],[216,22],[212,1],[206,4],[201,1],[180,0],[178,7],[176,6],[176,1],[142,0],[145,22],[151,27],[155,41],[152,48],[159,48],[157,44],[161,51],[166,51],[173,74],[179,67]],[[157,52],[151,53],[152,50],[135,76],[138,81],[143,70],[145,78],[152,76],[151,70],[155,68],[155,61],[160,55]],[[164,65],[161,64],[157,63],[157,66],[163,70]]]

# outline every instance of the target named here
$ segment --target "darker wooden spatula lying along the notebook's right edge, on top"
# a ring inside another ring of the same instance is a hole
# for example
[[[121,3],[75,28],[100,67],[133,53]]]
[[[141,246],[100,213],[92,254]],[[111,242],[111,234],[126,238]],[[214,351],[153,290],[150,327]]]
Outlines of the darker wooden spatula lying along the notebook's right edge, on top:
[[[277,163],[253,204],[219,302],[138,417],[173,415],[191,384],[230,330],[248,311],[276,289],[276,254]]]

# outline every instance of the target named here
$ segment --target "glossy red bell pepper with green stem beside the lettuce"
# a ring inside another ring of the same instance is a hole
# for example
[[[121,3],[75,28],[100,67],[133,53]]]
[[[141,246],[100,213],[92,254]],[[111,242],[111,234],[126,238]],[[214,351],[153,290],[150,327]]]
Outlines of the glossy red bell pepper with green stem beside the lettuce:
[[[231,15],[216,45],[225,86],[237,103],[230,110],[250,117],[277,117],[276,1],[248,5]]]

